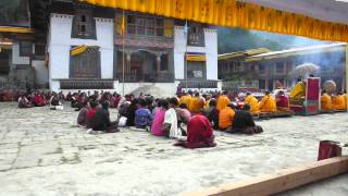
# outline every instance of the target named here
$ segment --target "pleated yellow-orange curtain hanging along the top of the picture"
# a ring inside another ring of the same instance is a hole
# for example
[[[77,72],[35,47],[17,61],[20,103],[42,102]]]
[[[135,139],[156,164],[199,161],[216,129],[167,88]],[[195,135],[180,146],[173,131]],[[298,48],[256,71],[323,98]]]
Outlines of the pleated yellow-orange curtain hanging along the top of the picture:
[[[348,25],[236,0],[80,0],[95,5],[322,40],[348,41]]]

